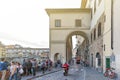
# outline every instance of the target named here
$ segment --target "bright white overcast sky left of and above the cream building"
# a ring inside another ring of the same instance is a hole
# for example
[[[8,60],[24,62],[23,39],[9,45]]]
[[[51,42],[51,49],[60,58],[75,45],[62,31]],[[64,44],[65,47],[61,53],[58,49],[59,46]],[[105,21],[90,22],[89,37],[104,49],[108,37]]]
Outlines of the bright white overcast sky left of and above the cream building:
[[[80,8],[81,0],[0,0],[0,41],[49,48],[47,8]]]

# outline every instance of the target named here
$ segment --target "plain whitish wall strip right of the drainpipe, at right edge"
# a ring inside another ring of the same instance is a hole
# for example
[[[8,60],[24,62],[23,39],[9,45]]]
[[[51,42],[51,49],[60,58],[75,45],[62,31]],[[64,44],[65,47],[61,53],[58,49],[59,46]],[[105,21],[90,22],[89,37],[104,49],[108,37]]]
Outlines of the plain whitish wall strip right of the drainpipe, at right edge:
[[[113,0],[113,54],[115,55],[115,66],[120,79],[120,0]]]

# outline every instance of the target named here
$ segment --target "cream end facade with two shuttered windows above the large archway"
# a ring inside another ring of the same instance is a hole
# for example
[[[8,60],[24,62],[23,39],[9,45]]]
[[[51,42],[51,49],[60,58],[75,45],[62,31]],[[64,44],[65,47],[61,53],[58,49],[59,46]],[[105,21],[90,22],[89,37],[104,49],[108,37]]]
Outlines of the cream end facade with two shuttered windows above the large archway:
[[[91,9],[46,9],[50,18],[50,57],[63,62],[72,58],[73,35],[88,43]]]

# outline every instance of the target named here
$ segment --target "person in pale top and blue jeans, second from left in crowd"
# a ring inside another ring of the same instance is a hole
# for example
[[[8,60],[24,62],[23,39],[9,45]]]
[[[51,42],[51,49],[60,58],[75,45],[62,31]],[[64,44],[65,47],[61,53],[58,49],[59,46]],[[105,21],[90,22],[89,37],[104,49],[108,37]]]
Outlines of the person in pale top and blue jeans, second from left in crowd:
[[[17,80],[17,66],[14,61],[11,62],[9,80],[13,79]]]

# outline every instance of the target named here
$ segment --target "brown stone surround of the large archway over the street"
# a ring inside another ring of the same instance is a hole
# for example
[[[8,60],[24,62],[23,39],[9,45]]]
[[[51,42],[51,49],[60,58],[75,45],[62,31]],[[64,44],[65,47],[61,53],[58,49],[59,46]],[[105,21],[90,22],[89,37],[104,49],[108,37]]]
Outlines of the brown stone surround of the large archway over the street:
[[[66,61],[69,61],[72,58],[72,47],[70,46],[71,44],[71,36],[73,35],[80,35],[85,39],[86,44],[89,44],[89,39],[87,36],[87,33],[83,32],[83,31],[73,31],[70,32],[68,34],[68,36],[66,37]]]

